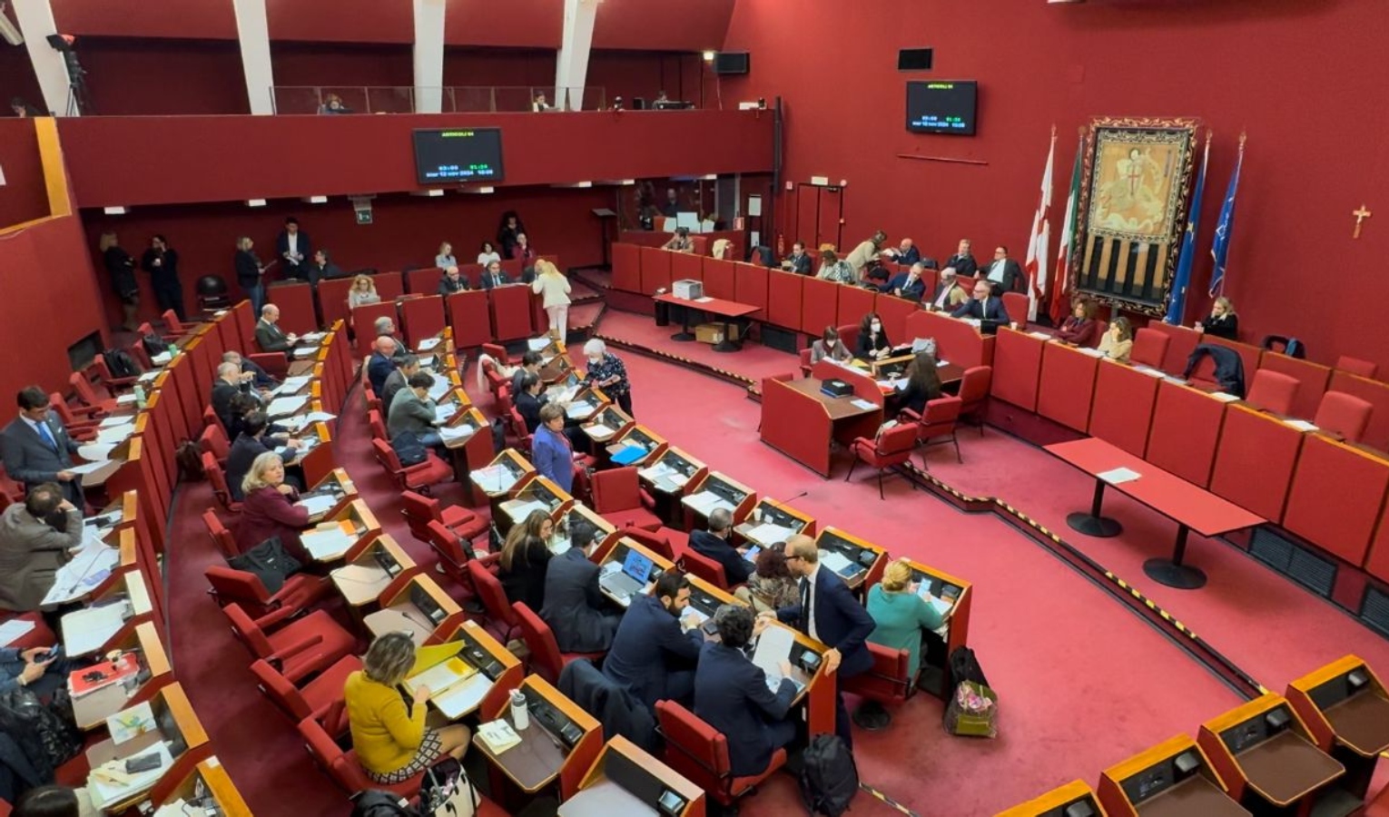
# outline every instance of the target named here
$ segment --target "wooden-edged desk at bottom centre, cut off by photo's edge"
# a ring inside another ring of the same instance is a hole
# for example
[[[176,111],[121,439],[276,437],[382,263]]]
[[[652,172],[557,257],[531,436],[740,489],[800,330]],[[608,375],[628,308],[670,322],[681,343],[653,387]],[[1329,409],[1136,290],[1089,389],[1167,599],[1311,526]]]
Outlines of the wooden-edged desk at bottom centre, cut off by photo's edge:
[[[583,775],[579,791],[560,804],[560,817],[635,817],[658,814],[656,800],[674,792],[685,807],[674,817],[704,817],[704,791],[626,738],[608,741]],[[639,795],[646,795],[639,796]]]

